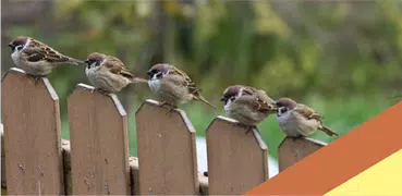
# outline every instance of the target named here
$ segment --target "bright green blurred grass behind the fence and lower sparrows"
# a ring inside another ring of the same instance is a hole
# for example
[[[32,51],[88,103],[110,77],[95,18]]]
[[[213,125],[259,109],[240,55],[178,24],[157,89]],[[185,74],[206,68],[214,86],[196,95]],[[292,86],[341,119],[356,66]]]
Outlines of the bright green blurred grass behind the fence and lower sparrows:
[[[320,112],[324,117],[324,123],[341,136],[392,106],[391,100],[385,101],[380,98],[367,99],[367,97],[364,96],[352,96],[350,98],[338,100],[325,100],[320,97],[310,96],[304,100],[304,103]],[[137,155],[134,113],[138,107],[139,105],[135,105],[135,107],[130,110],[131,112],[129,114],[130,155],[132,156]],[[218,107],[222,108],[222,106]],[[182,109],[192,121],[197,132],[197,136],[205,136],[205,130],[216,115],[224,115],[221,109],[214,112],[207,109],[203,103],[198,102],[185,105]],[[269,117],[258,126],[258,128],[261,133],[263,139],[268,145],[269,155],[277,158],[277,149],[284,138],[284,134],[279,130],[276,117]],[[337,138],[328,137],[321,132],[316,132],[312,137],[326,143],[330,143]],[[62,138],[69,138],[69,125],[66,120],[62,121]]]

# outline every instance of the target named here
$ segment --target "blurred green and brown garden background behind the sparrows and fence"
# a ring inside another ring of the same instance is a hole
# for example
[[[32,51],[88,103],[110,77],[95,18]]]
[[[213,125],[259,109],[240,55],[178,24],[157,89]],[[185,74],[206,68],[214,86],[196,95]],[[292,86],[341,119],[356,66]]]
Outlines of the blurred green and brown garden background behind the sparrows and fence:
[[[200,136],[216,114],[223,115],[219,98],[229,85],[304,102],[341,135],[395,103],[390,97],[402,90],[402,1],[9,0],[0,11],[2,74],[13,66],[7,44],[17,35],[77,59],[94,51],[115,56],[142,77],[153,64],[169,62],[219,107],[218,112],[199,102],[181,107]],[[69,138],[66,97],[88,81],[77,66],[61,68],[49,78]],[[146,85],[118,96],[129,112],[136,155],[134,112],[153,97]],[[276,157],[284,136],[275,117],[259,130]]]

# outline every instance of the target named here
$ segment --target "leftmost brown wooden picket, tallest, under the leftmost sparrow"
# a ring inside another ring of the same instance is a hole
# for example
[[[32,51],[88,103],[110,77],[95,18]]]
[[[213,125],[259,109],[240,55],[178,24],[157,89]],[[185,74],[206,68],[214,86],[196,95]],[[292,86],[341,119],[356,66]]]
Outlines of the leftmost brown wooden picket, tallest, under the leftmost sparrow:
[[[62,195],[59,98],[44,77],[11,69],[1,82],[8,194]]]

